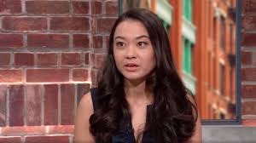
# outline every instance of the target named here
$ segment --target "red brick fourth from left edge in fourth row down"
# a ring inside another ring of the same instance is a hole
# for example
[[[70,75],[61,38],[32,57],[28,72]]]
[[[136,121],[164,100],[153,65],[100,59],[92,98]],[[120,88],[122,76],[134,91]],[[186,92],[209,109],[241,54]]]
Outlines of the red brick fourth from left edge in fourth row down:
[[[81,56],[79,53],[62,53],[61,66],[79,66],[81,64]]]

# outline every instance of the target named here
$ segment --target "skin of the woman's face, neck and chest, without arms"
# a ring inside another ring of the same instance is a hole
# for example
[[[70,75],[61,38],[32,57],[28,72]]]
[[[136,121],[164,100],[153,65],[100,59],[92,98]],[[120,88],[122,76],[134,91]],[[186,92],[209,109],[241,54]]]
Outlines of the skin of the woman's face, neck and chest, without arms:
[[[146,121],[146,107],[152,102],[152,94],[146,89],[146,78],[155,66],[148,31],[141,22],[125,20],[119,24],[114,33],[113,55],[119,72],[125,77],[125,95],[130,105],[134,135],[137,137]],[[127,69],[127,63],[136,64],[137,67]]]

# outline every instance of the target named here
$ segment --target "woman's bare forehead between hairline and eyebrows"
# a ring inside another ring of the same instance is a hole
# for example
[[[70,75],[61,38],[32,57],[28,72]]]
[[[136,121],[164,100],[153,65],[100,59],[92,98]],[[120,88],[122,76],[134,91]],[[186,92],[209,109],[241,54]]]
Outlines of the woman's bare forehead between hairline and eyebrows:
[[[114,37],[138,37],[142,35],[148,36],[148,31],[139,20],[124,20],[114,31]]]

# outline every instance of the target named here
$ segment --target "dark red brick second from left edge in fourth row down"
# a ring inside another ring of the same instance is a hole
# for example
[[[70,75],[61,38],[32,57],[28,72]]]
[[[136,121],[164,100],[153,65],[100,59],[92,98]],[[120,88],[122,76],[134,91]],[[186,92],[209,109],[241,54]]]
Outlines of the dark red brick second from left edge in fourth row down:
[[[34,66],[34,54],[15,53],[15,66]]]

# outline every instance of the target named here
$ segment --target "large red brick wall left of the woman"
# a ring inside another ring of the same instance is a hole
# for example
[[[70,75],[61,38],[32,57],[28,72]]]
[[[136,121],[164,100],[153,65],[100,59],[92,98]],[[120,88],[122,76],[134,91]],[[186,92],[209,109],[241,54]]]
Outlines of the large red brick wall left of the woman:
[[[116,0],[0,0],[0,142],[73,140]]]

